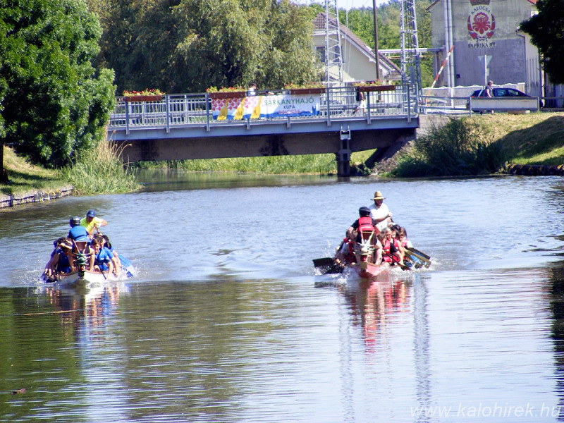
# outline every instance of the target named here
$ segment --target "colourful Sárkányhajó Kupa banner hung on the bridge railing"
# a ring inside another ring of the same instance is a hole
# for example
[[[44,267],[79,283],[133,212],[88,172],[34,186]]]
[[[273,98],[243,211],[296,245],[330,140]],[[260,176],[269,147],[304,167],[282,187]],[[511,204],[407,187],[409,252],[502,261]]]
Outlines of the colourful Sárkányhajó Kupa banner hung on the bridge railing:
[[[216,121],[319,115],[319,94],[273,94],[212,99]]]

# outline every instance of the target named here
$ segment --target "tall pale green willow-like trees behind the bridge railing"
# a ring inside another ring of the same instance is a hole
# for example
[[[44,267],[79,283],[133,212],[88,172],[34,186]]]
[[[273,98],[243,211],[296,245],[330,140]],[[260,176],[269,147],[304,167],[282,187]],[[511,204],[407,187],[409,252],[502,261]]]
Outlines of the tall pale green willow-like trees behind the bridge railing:
[[[201,92],[316,80],[312,22],[288,0],[88,0],[118,90]]]

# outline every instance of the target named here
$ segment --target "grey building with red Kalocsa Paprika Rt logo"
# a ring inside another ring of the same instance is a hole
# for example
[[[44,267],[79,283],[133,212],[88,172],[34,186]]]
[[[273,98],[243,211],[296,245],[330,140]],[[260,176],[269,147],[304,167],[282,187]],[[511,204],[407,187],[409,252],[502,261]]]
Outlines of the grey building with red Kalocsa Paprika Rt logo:
[[[437,86],[455,87],[525,82],[525,91],[543,97],[544,75],[537,48],[519,30],[537,0],[436,0],[431,13],[438,69],[454,46]]]

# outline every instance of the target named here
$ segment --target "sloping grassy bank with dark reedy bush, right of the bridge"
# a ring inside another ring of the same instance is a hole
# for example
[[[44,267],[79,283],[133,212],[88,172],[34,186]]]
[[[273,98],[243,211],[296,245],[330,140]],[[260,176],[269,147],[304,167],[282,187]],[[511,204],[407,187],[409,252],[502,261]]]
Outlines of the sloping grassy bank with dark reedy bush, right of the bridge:
[[[564,114],[488,114],[453,118],[400,154],[394,176],[466,176],[505,164],[564,164]]]

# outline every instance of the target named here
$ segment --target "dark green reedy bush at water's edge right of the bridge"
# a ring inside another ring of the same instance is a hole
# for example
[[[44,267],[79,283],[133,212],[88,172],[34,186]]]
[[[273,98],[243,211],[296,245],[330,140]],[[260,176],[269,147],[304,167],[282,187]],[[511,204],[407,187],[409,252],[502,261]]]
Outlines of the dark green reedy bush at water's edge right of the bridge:
[[[392,172],[401,177],[467,176],[496,173],[503,167],[501,146],[470,118],[452,118],[417,138]]]

